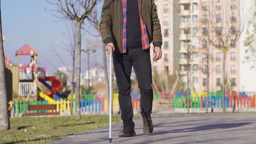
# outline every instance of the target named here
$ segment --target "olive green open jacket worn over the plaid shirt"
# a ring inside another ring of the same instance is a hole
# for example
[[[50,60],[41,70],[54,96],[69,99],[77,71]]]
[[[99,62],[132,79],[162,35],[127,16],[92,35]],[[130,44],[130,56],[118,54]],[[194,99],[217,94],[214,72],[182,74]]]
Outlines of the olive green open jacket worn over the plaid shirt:
[[[161,26],[156,13],[154,0],[139,0],[141,16],[146,23],[149,43],[156,47],[162,45]],[[113,43],[115,52],[122,51],[123,8],[122,0],[104,0],[100,31],[104,44]],[[118,49],[117,49],[118,48]]]

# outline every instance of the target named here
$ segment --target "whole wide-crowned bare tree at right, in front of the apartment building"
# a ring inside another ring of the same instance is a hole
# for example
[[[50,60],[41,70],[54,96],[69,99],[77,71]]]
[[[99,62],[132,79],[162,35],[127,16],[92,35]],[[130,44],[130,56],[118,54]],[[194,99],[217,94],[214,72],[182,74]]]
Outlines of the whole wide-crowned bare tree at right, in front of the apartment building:
[[[222,4],[220,4],[223,2]],[[202,5],[203,19],[202,34],[210,41],[211,45],[220,50],[223,54],[222,63],[222,91],[223,91],[223,112],[225,112],[225,86],[226,86],[226,55],[232,45],[235,45],[243,32],[244,25],[240,15],[240,2],[229,5],[226,1],[209,1],[208,5]],[[221,7],[223,5],[223,8]],[[231,6],[231,7],[230,7]],[[223,9],[224,13],[220,13]]]

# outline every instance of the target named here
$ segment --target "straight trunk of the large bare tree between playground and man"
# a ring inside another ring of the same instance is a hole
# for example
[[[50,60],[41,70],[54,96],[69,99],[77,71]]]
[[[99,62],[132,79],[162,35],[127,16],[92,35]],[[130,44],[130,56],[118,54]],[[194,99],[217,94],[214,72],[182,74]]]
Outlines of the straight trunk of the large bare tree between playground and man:
[[[80,112],[80,70],[81,70],[81,23],[77,23],[77,87],[75,89],[75,96],[77,99],[77,119],[81,119]]]

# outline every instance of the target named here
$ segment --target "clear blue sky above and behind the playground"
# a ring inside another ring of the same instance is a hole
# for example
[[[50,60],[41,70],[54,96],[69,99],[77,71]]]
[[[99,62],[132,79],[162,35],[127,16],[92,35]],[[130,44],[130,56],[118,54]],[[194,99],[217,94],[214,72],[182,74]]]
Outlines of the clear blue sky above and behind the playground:
[[[38,64],[46,67],[49,74],[56,71],[54,67],[61,67],[63,64],[56,56],[52,47],[59,51],[60,56],[67,66],[71,66],[71,57],[68,52],[62,50],[56,45],[62,45],[66,41],[63,33],[67,34],[67,21],[60,21],[51,13],[53,11],[45,9],[55,9],[54,5],[49,4],[44,0],[2,0],[2,27],[4,41],[5,56],[9,57],[12,62],[16,64],[17,58],[15,52],[25,44],[29,44],[33,49],[39,52]],[[96,39],[85,33],[82,39],[82,49],[85,49],[87,39]],[[101,38],[97,38],[101,40]],[[93,60],[100,63],[101,50],[92,55]],[[83,57],[83,62],[86,58]],[[29,56],[21,56],[21,63],[30,61]],[[51,64],[50,64],[50,63]],[[54,67],[53,67],[54,65]],[[84,66],[84,67],[83,67]],[[82,69],[85,70],[87,66],[82,63]]]

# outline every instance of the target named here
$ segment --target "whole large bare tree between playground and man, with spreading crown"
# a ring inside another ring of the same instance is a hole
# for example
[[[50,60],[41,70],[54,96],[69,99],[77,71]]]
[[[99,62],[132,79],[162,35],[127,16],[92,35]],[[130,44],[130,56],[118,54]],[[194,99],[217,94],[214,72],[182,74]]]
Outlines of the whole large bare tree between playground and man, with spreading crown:
[[[80,112],[80,72],[81,72],[81,27],[82,24],[88,19],[89,15],[92,13],[92,10],[97,5],[97,0],[59,0],[50,2],[57,6],[57,10],[54,10],[56,13],[61,14],[60,19],[68,19],[75,21],[77,25],[77,87],[75,89],[75,95],[77,99],[77,119],[81,119]]]

